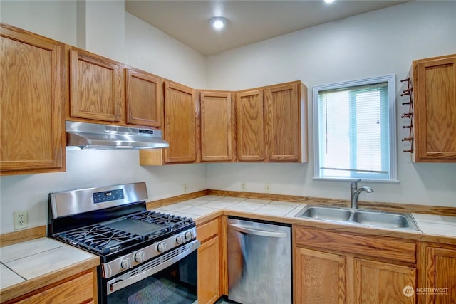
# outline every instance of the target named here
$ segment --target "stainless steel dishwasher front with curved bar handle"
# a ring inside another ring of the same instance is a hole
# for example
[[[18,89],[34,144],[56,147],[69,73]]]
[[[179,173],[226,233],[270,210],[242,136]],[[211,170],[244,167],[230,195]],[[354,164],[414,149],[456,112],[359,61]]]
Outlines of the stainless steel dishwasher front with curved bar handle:
[[[291,303],[291,227],[229,218],[227,228],[229,300]]]

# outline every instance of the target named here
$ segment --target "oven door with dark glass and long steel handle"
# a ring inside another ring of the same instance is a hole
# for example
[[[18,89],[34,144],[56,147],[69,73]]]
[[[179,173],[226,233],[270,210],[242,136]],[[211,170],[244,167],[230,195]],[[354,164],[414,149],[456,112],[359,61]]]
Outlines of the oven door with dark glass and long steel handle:
[[[194,240],[115,278],[103,278],[102,303],[197,303],[197,248]]]

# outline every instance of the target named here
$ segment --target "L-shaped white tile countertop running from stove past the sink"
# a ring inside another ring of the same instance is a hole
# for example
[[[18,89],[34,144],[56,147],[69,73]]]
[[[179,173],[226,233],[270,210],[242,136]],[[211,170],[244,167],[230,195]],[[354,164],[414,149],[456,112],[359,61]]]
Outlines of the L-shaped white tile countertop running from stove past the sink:
[[[244,216],[249,217],[254,215],[258,216],[274,216],[277,220],[286,222],[292,221],[293,223],[313,221],[322,223],[320,220],[301,219],[294,216],[306,206],[306,204],[299,204],[286,201],[268,201],[264,199],[245,199],[242,197],[232,196],[215,196],[206,195],[200,196],[196,199],[182,201],[177,204],[170,204],[167,206],[160,206],[154,211],[175,214],[178,216],[191,217],[198,222],[199,219],[214,214],[217,211],[227,211],[227,214],[238,211],[244,213]],[[420,231],[398,231],[400,234],[419,234],[416,239],[420,239],[420,235],[442,236],[448,238],[455,238],[456,243],[456,216],[436,216],[431,214],[412,214]],[[330,224],[327,224],[330,225]],[[326,228],[328,226],[326,225]],[[338,224],[340,227],[343,224]],[[336,226],[336,224],[334,224]],[[352,226],[353,227],[353,226]],[[371,229],[363,226],[357,226],[357,229],[363,229],[362,232]],[[346,229],[348,231],[348,229]],[[393,229],[376,229],[383,231],[392,231]],[[353,229],[352,229],[353,231]],[[392,235],[392,234],[389,234]]]

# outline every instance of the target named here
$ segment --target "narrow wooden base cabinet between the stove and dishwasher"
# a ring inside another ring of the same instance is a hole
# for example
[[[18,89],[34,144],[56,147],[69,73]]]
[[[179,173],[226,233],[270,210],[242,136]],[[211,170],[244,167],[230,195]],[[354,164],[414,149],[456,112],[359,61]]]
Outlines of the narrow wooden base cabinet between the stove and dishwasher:
[[[198,303],[212,304],[222,295],[221,218],[197,226],[198,248]]]

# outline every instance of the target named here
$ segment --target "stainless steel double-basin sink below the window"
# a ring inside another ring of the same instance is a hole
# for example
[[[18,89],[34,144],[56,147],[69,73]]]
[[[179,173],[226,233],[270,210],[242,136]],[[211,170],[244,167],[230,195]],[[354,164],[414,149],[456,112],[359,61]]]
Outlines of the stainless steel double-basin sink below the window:
[[[308,205],[296,217],[341,224],[420,231],[408,213]]]

